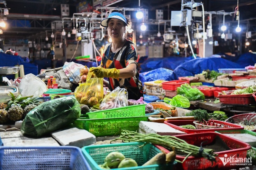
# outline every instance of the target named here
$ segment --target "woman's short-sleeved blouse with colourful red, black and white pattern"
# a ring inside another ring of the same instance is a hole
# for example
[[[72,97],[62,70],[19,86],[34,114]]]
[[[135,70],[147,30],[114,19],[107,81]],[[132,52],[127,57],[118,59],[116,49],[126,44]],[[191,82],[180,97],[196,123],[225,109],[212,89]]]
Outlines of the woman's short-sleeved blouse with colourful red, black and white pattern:
[[[126,68],[131,63],[135,63],[138,67],[137,61],[139,60],[139,54],[134,43],[127,40],[124,46],[116,53],[111,52],[111,44],[112,43],[107,43],[105,46],[101,60],[101,67],[107,69],[122,69]],[[126,88],[128,91],[128,99],[138,100],[140,97],[143,97],[143,87],[141,81],[139,80],[139,73],[137,68],[136,75],[132,78],[108,79],[111,91],[116,87]]]

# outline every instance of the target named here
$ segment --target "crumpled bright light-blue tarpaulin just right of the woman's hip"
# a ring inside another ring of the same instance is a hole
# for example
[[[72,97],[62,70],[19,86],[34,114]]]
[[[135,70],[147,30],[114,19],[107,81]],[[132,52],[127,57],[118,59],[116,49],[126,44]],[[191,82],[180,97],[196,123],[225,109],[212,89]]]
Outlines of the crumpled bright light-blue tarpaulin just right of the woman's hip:
[[[173,71],[165,68],[158,68],[155,70],[143,72],[139,74],[139,79],[144,85],[144,82],[155,80],[171,80]]]

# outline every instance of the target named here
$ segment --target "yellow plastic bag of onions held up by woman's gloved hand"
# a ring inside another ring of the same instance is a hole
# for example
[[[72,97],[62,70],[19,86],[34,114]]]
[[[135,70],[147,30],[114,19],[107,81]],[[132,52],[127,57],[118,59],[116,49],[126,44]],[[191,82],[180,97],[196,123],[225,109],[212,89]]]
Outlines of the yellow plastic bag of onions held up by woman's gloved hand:
[[[75,89],[75,98],[80,104],[86,104],[88,106],[94,106],[103,99],[103,78],[97,78],[93,72],[87,75],[85,83],[80,83]]]

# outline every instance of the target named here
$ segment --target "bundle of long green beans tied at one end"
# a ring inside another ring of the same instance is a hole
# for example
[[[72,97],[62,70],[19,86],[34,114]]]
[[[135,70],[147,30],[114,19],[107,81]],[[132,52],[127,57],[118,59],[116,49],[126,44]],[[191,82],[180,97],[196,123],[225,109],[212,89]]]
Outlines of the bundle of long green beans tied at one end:
[[[185,161],[189,156],[194,157],[203,157],[210,161],[216,161],[215,156],[218,154],[213,153],[213,149],[202,149],[200,147],[194,146],[192,144],[187,143],[186,141],[179,139],[174,136],[161,136],[159,134],[142,134],[134,131],[122,130],[120,137],[112,140],[122,140],[123,142],[146,142],[157,144],[159,146],[163,146],[168,150],[172,151],[172,148],[175,148],[175,152],[181,155],[187,155],[182,162]],[[111,142],[112,142],[111,141]],[[178,161],[180,162],[180,161]]]

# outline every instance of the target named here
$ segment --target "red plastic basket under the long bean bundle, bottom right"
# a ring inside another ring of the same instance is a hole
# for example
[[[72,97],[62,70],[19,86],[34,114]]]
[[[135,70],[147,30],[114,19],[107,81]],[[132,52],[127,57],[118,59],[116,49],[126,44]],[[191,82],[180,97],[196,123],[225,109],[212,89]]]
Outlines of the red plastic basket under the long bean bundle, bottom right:
[[[179,139],[185,140],[189,144],[193,144],[195,146],[200,147],[201,143],[203,143],[203,146],[208,146],[211,144],[217,137],[220,137],[220,139],[226,143],[228,148],[230,150],[226,151],[219,151],[214,152],[218,154],[216,156],[216,162],[211,162],[208,159],[202,158],[202,157],[193,157],[189,156],[182,164],[178,163],[177,169],[184,169],[184,170],[205,170],[205,169],[232,169],[236,167],[236,165],[231,165],[229,162],[227,164],[223,164],[220,158],[227,158],[234,157],[234,159],[238,158],[246,158],[247,150],[251,148],[251,146],[248,143],[242,142],[240,140],[228,137],[224,134],[218,134],[215,132],[210,133],[197,133],[197,134],[183,134],[183,135],[177,135],[176,136]],[[161,146],[156,146],[160,150],[164,150],[165,152],[170,152],[169,150],[165,149]],[[183,161],[185,157],[176,155],[176,159]],[[226,163],[226,162],[225,162]]]

